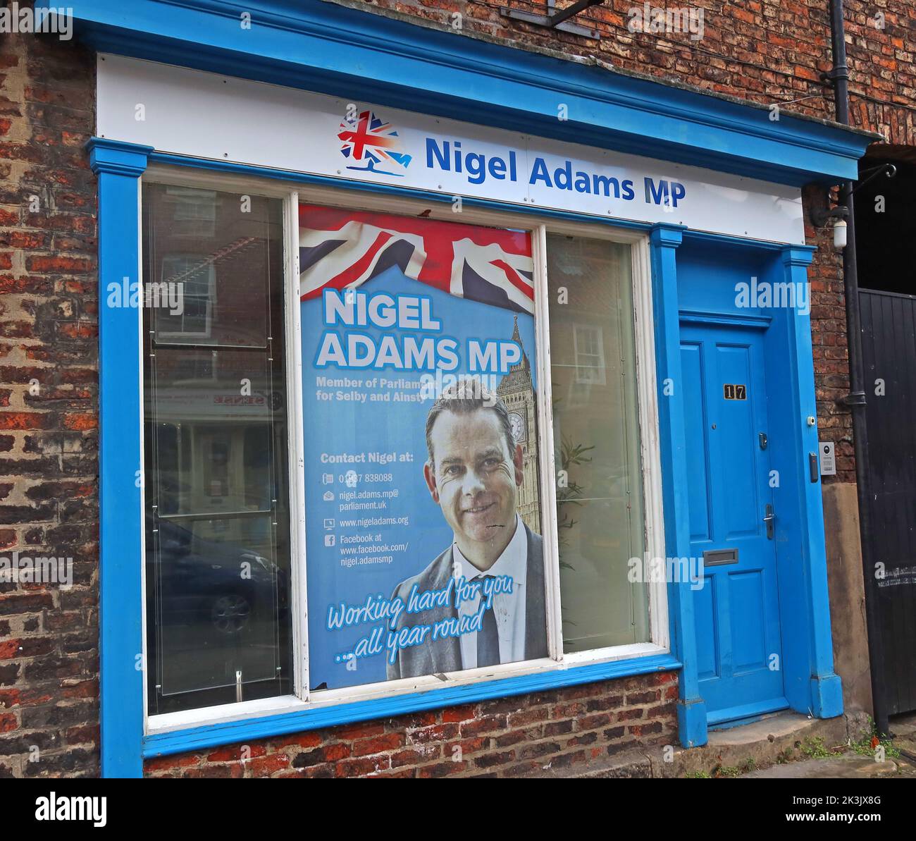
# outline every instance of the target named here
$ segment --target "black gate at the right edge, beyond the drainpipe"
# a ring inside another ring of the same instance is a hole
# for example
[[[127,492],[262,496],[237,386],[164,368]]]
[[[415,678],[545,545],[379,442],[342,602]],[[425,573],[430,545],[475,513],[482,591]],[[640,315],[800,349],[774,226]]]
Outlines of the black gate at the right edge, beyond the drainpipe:
[[[888,714],[916,710],[916,296],[861,289],[868,499]],[[882,577],[883,576],[883,577]]]

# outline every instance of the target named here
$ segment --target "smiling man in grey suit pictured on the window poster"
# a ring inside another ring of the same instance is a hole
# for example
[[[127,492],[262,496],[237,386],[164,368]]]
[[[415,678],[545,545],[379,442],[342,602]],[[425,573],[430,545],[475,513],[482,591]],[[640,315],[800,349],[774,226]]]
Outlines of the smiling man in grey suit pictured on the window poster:
[[[450,584],[451,597],[446,605],[405,610],[396,631],[451,619],[450,627],[461,621],[466,632],[436,639],[430,633],[400,648],[396,660],[387,661],[388,680],[546,657],[543,547],[516,511],[522,450],[506,405],[479,381],[459,380],[433,404],[426,446],[423,475],[454,541],[398,584],[392,598],[409,605],[411,593],[442,592]],[[459,584],[474,597],[456,600]]]

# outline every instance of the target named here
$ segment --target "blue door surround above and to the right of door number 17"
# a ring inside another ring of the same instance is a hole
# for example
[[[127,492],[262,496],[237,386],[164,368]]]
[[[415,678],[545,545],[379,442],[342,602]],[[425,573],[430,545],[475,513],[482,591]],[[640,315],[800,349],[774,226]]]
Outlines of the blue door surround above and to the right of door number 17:
[[[817,426],[811,321],[805,306],[736,311],[736,282],[758,287],[791,284],[806,288],[813,248],[738,244],[688,234],[679,253],[679,317],[690,324],[743,324],[762,333],[767,391],[771,491],[777,515],[773,541],[780,609],[782,675],[791,709],[829,718],[843,712],[839,677],[834,674],[833,644],[823,537],[823,503],[819,475],[812,476]],[[789,286],[783,288],[789,289]],[[808,298],[810,301],[810,297]],[[760,704],[756,712],[769,712]],[[748,708],[747,715],[755,710]],[[710,714],[711,721],[716,720]]]

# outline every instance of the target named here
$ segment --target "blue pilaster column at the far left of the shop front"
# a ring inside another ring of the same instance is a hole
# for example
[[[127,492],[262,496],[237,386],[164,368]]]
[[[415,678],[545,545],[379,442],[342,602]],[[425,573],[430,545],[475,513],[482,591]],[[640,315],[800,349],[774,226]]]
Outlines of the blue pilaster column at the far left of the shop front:
[[[151,147],[93,137],[99,180],[99,658],[103,777],[143,759],[140,176]],[[114,290],[117,289],[117,292]],[[134,300],[131,300],[134,298]],[[133,304],[133,305],[132,305]]]

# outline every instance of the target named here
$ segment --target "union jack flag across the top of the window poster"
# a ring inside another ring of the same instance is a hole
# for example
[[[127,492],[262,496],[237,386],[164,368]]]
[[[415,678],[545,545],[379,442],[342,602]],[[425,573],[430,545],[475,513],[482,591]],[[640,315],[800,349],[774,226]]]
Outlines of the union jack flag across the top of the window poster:
[[[459,298],[534,314],[528,231],[300,204],[300,296],[356,288],[397,266]]]

